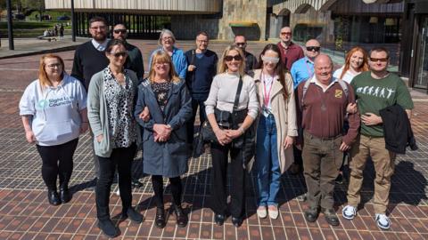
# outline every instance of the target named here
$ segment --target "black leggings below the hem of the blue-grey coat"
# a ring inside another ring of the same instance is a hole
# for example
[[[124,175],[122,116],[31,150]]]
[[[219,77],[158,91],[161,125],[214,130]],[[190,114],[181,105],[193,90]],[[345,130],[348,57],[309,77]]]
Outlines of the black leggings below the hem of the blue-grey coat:
[[[172,200],[177,206],[181,205],[181,179],[180,177],[169,178]],[[154,200],[156,206],[163,208],[163,177],[161,175],[152,175],[152,186],[154,191]]]

